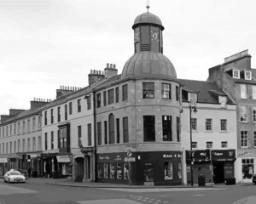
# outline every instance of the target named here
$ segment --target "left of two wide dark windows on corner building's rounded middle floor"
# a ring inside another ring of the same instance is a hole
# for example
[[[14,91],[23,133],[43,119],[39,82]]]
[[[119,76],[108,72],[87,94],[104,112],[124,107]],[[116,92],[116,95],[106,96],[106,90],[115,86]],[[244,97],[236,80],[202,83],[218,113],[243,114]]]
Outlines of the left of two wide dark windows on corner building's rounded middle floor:
[[[143,116],[144,142],[155,141],[154,116]]]

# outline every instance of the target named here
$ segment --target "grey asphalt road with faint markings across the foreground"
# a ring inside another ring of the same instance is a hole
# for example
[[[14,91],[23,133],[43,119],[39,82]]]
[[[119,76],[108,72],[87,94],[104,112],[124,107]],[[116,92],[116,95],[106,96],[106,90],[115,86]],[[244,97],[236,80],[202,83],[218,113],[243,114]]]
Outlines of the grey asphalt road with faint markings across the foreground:
[[[221,186],[205,190],[94,189],[50,184],[0,183],[0,204],[255,204],[256,186]]]

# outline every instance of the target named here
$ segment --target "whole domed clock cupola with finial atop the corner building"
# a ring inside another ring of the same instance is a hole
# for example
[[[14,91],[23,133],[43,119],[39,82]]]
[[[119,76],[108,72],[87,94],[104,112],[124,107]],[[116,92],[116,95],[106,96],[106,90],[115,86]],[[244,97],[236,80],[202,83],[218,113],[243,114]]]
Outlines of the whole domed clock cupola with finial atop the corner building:
[[[135,54],[125,63],[122,77],[176,79],[172,62],[163,54],[162,31],[165,28],[160,18],[149,12],[140,14],[135,19],[132,29]]]

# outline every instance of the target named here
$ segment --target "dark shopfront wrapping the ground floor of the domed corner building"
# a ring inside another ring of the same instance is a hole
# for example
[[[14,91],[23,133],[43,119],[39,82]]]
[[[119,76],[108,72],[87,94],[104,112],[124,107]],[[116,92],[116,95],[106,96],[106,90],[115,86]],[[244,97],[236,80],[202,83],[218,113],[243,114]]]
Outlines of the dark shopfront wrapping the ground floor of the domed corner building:
[[[182,184],[181,152],[149,151],[130,152],[130,154],[127,152],[98,154],[97,176],[98,181],[106,183]]]

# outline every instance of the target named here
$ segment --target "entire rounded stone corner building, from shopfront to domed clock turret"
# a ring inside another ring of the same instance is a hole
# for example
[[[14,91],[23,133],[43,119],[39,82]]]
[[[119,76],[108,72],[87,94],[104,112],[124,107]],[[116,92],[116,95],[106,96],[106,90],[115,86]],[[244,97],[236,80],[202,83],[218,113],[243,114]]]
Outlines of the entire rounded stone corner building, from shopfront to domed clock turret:
[[[134,51],[121,75],[95,88],[97,180],[124,184],[181,184],[180,87],[163,54],[164,26],[138,15]]]

